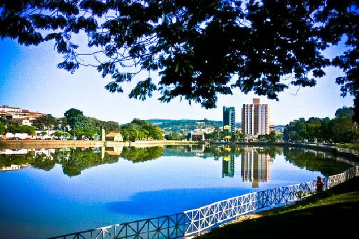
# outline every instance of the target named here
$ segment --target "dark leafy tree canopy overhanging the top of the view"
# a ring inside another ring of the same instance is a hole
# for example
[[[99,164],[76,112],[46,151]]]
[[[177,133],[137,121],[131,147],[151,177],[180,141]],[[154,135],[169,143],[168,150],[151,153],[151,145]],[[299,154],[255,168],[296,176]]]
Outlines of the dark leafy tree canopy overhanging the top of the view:
[[[357,10],[355,0],[5,0],[0,36],[26,46],[54,40],[65,58],[59,68],[97,67],[111,75],[110,92],[140,71],[159,72],[159,82],[149,74],[129,97],[159,90],[162,102],[179,96],[206,109],[236,87],[278,100],[289,84],[314,86],[337,66],[359,121]],[[74,40],[80,31],[92,52]],[[321,51],[342,40],[348,50],[326,59]]]

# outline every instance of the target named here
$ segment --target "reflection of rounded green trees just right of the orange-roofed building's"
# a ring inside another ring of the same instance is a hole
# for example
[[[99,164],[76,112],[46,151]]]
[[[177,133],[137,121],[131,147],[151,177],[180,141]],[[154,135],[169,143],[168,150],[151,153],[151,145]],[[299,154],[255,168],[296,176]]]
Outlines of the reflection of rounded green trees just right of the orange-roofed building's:
[[[120,156],[137,163],[159,158],[162,154],[163,148],[159,146],[146,148],[124,147]]]

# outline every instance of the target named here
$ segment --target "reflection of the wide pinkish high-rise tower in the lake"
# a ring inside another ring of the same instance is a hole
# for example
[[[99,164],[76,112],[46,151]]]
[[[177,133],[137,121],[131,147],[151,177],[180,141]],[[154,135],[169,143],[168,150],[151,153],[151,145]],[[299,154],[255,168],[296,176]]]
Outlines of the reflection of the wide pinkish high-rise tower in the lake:
[[[268,182],[269,161],[268,154],[258,153],[254,148],[248,147],[246,152],[242,153],[243,182],[252,182],[252,187],[258,187],[259,182]]]

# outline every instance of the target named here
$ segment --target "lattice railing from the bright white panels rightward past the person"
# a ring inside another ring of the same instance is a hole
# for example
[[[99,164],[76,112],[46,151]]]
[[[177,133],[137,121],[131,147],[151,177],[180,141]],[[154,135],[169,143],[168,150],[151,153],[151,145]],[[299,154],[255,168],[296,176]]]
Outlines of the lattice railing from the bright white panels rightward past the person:
[[[338,175],[329,176],[324,179],[323,190],[345,182],[349,178],[359,175],[359,166],[350,168]],[[189,219],[184,236],[198,234],[208,228],[218,225],[224,221],[237,218],[241,215],[254,213],[257,210],[272,206],[281,206],[291,201],[297,201],[316,193],[316,180],[280,187],[265,191],[248,193],[227,200],[214,202],[210,205],[197,209],[184,211]]]

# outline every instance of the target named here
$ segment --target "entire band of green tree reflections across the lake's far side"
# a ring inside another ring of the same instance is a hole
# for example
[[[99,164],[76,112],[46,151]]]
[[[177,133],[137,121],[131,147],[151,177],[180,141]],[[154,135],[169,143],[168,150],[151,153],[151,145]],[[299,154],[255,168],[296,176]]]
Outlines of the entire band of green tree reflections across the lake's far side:
[[[283,154],[285,159],[295,166],[310,171],[319,171],[325,176],[341,173],[349,167],[347,163],[336,161],[320,151],[281,147],[254,147],[253,149],[258,154],[269,155],[272,160],[277,155]],[[93,166],[115,163],[119,157],[132,162],[144,162],[161,156],[214,157],[214,160],[219,160],[223,156],[237,157],[246,152],[246,148],[233,145],[208,145],[204,147],[201,154],[191,152],[189,145],[166,145],[164,148],[158,146],[147,148],[124,147],[120,156],[105,153],[104,158],[101,159],[101,152],[96,150],[96,148],[59,148],[55,149],[51,156],[42,153],[35,155],[35,151],[29,151],[25,154],[0,154],[0,167],[11,166],[11,164],[30,164],[34,168],[49,171],[55,164],[62,164],[64,174],[75,176],[79,175],[82,170]]]

